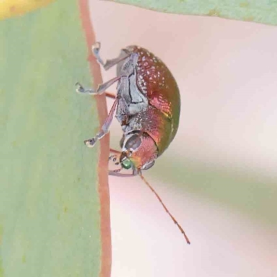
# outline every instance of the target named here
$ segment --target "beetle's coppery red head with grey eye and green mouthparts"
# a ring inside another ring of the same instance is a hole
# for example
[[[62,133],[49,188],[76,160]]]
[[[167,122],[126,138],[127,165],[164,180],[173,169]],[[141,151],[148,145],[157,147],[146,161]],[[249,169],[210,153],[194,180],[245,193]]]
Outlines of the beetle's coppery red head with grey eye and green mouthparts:
[[[121,166],[135,172],[151,168],[158,157],[156,143],[145,132],[132,132],[123,136],[121,147]]]

